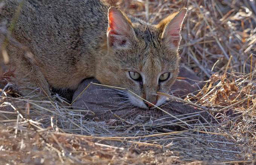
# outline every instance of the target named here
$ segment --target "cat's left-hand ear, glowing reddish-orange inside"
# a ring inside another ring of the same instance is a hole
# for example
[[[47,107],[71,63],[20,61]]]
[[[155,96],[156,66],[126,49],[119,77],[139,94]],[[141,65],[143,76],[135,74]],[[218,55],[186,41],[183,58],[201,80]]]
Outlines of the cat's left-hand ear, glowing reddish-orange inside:
[[[130,19],[116,7],[110,7],[108,9],[108,46],[126,48],[130,46],[133,37],[135,33]]]

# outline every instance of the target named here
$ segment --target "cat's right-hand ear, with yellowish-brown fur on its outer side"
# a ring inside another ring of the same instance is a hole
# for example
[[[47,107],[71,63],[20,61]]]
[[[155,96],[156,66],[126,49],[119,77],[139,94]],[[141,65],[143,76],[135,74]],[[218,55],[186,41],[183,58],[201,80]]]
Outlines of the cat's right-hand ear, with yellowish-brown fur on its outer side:
[[[163,31],[163,40],[171,49],[178,49],[180,45],[180,31],[186,13],[187,9],[183,8],[179,12],[169,15],[157,25]]]

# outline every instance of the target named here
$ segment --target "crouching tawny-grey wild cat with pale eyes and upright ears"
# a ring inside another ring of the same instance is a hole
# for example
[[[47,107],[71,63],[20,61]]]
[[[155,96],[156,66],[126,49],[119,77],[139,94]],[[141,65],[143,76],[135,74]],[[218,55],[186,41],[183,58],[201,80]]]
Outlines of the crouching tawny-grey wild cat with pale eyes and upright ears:
[[[20,3],[12,37],[29,48],[36,63],[11,44],[6,50],[27,86],[50,94],[52,87],[75,90],[94,77],[156,106],[166,101],[156,93],[168,93],[177,78],[186,8],[150,24],[100,0],[5,0],[0,21],[10,26]],[[125,95],[130,104],[153,107]]]

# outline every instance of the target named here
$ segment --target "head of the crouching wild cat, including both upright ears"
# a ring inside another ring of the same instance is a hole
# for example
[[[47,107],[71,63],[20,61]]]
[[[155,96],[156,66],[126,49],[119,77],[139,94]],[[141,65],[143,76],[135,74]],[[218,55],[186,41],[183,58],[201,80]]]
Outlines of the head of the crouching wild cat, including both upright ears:
[[[98,64],[96,78],[102,84],[131,90],[156,106],[162,105],[166,97],[156,94],[168,93],[177,78],[177,50],[185,15],[186,9],[182,9],[158,25],[150,25],[130,20],[111,7],[108,54]],[[136,95],[127,92],[128,102],[141,108],[154,107]]]

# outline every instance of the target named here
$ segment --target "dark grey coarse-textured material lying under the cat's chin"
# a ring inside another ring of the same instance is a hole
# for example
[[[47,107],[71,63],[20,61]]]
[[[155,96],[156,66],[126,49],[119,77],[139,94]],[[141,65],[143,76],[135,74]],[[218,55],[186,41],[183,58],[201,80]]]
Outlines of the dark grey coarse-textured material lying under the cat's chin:
[[[206,124],[212,120],[208,112],[177,101],[167,101],[168,104],[161,107],[167,113],[158,109],[146,110],[133,107],[120,94],[120,91],[90,84],[91,82],[99,83],[93,78],[86,79],[73,95],[73,101],[75,100],[72,105],[74,107],[73,109],[85,110],[85,119],[106,121],[111,124],[114,121],[116,121],[114,122],[115,124],[121,124],[122,121],[126,121],[126,123],[128,121],[128,123],[145,124],[151,121],[151,124],[162,123],[163,126],[172,130],[181,130],[185,127],[191,128],[191,124]],[[84,90],[88,84],[90,86]],[[187,88],[191,88],[190,85]]]

